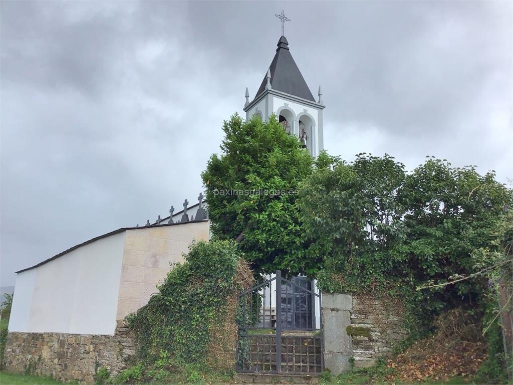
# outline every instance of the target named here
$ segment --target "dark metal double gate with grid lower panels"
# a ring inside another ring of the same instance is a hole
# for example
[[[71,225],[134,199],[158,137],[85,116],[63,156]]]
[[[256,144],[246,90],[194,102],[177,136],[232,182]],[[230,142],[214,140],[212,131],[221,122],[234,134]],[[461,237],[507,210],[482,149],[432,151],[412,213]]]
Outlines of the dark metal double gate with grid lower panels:
[[[311,281],[276,275],[239,295],[236,371],[316,374],[324,370],[322,303]]]

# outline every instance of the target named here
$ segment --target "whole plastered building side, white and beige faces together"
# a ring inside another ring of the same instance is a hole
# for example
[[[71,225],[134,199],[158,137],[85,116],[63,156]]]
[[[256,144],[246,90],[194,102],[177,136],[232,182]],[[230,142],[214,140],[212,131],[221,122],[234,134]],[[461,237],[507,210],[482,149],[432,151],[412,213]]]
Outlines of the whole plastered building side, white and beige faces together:
[[[17,274],[10,332],[113,335],[209,221],[120,229]]]

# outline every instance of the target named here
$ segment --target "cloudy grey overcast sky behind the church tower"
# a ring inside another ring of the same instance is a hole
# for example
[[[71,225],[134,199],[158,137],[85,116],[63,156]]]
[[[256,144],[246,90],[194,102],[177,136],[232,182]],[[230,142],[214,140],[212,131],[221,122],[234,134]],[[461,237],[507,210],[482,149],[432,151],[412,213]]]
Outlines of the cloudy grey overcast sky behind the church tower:
[[[1,285],[202,190],[285,27],[325,148],[512,176],[510,2],[44,2],[1,6]]]

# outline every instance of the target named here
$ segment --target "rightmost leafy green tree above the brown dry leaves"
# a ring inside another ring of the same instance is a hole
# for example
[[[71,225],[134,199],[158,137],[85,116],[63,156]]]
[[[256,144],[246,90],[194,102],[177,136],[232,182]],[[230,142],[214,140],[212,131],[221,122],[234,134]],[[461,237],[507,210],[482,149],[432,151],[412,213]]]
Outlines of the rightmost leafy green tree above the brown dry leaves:
[[[475,167],[453,168],[430,158],[406,177],[400,197],[408,207],[407,237],[398,255],[411,277],[423,285],[473,274],[494,261],[476,259],[476,251],[496,242],[494,229],[511,202],[511,190],[495,172],[479,175]],[[441,287],[439,306],[475,300],[486,291],[481,277]],[[467,302],[468,303],[468,302]]]

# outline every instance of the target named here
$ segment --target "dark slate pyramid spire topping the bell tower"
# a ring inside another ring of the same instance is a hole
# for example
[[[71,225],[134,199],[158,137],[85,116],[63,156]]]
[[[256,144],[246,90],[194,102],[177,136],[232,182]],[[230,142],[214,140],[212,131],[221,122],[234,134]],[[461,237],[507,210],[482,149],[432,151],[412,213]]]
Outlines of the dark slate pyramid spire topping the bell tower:
[[[271,88],[273,90],[282,91],[315,102],[305,79],[303,79],[303,75],[290,54],[285,36],[280,37],[278,41],[278,48],[269,69],[271,71]],[[267,75],[264,77],[256,96],[265,91],[266,84]]]

